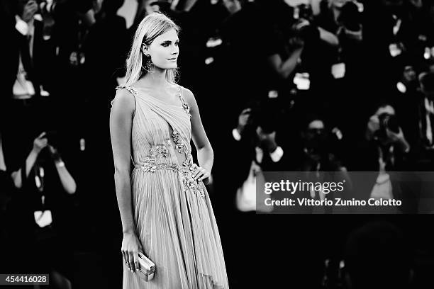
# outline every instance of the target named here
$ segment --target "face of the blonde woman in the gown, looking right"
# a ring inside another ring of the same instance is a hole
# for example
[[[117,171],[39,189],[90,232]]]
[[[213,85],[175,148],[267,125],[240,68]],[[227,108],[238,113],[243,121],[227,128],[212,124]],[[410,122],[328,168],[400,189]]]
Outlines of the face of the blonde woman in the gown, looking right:
[[[171,29],[155,38],[148,47],[143,45],[143,53],[150,55],[152,63],[160,69],[177,68],[179,39],[176,30]]]

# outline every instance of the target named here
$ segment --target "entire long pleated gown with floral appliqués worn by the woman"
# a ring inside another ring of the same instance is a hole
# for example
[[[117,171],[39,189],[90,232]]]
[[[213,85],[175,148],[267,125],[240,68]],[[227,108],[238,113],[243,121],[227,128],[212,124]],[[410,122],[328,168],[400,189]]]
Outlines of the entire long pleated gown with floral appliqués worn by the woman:
[[[131,86],[135,113],[131,131],[132,203],[138,238],[155,263],[144,282],[123,266],[123,288],[228,288],[213,208],[203,182],[191,176],[190,108],[177,86],[179,105]],[[113,103],[113,102],[112,102]]]

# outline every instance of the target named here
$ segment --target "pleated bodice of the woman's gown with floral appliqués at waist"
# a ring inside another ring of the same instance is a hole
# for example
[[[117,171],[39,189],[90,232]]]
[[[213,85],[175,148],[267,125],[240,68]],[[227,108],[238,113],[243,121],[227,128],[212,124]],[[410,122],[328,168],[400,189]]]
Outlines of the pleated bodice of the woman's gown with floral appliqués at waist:
[[[135,97],[131,130],[132,159],[135,169],[145,173],[172,170],[182,174],[184,188],[204,197],[204,190],[191,173],[197,167],[191,156],[190,107],[177,86],[179,104],[169,104],[152,96],[150,91],[132,86],[127,89]]]

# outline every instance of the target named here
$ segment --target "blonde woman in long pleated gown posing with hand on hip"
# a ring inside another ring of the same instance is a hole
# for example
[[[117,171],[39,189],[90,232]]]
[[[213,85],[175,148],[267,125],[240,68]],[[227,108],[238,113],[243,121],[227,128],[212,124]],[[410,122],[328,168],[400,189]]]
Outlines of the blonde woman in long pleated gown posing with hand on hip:
[[[178,31],[160,13],[143,19],[126,62],[126,84],[118,87],[112,101],[110,133],[125,289],[228,288],[204,186],[213,149],[194,95],[174,82]],[[199,165],[191,157],[191,137]],[[155,263],[155,277],[148,282],[139,276],[138,251]]]

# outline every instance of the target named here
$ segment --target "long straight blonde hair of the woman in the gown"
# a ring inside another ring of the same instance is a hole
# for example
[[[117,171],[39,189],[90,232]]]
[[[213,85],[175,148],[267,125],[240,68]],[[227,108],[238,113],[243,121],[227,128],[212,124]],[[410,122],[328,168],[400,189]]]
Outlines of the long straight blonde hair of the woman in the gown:
[[[142,45],[150,45],[152,41],[158,36],[174,29],[179,33],[179,26],[177,26],[172,19],[162,13],[152,13],[140,22],[137,30],[135,30],[133,45],[131,46],[130,53],[126,60],[126,82],[125,86],[133,84],[140,78],[145,76],[148,72],[143,67],[143,58],[145,55],[142,53]],[[171,83],[175,83],[178,76],[177,69],[167,69],[166,79]]]

